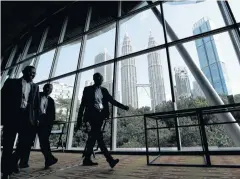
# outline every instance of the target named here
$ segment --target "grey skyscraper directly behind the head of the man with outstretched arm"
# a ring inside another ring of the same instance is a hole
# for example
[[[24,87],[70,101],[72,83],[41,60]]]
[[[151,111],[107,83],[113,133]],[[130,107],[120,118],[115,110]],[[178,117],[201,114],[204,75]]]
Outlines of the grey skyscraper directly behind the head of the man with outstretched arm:
[[[107,53],[107,50],[104,49],[104,52],[99,53],[95,57],[95,64],[102,63],[102,62],[107,61],[109,59],[111,59],[111,56]],[[112,93],[113,65],[109,64],[109,65],[104,65],[104,66],[97,67],[97,68],[94,69],[94,73],[97,73],[97,72],[101,73],[103,78],[104,78],[102,86],[107,88],[109,93]]]

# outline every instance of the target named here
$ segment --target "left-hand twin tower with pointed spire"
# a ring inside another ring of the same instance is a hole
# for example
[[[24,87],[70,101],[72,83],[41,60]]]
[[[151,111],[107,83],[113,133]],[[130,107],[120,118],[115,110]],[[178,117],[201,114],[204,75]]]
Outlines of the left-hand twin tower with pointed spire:
[[[131,52],[131,41],[126,33],[123,39],[122,55],[127,55]],[[121,61],[121,83],[123,104],[131,105],[132,107],[137,108],[138,96],[135,58],[129,58]]]

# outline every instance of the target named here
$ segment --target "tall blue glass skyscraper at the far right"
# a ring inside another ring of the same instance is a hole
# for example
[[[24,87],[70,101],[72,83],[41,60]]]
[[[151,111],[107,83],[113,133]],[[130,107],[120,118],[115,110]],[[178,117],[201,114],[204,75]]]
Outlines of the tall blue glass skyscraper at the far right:
[[[213,27],[208,18],[202,18],[194,24],[193,34],[210,31]],[[228,95],[230,85],[225,63],[222,60],[220,44],[216,36],[210,35],[195,40],[200,67],[218,94]]]

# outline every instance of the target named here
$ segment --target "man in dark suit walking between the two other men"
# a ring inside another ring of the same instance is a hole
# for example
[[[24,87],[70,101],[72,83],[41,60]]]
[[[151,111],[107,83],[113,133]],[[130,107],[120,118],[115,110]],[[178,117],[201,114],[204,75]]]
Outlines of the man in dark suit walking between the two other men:
[[[45,84],[43,87],[43,92],[40,92],[40,116],[38,118],[39,125],[36,127],[36,133],[39,137],[41,151],[45,158],[45,168],[57,163],[56,159],[51,152],[49,136],[51,134],[53,122],[55,121],[55,102],[49,96],[52,93],[52,84]],[[36,136],[34,134],[34,138]],[[26,155],[21,157],[20,168],[29,167],[28,161],[30,156],[30,151],[26,151]]]

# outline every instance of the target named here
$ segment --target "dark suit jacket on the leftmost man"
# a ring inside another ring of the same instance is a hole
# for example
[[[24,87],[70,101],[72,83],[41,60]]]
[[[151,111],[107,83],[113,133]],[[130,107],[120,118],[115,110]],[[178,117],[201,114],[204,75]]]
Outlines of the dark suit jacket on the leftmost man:
[[[19,119],[19,109],[22,102],[22,79],[7,79],[1,90],[2,96],[2,125],[14,124]],[[27,119],[32,124],[36,122],[39,116],[40,99],[39,87],[35,83],[31,84],[31,90],[28,97]]]

